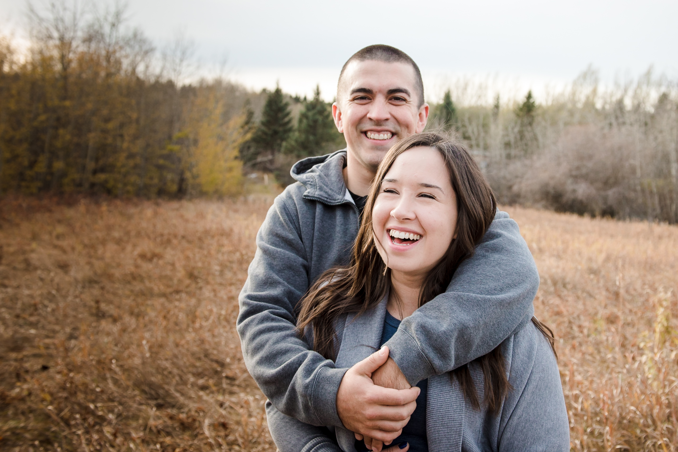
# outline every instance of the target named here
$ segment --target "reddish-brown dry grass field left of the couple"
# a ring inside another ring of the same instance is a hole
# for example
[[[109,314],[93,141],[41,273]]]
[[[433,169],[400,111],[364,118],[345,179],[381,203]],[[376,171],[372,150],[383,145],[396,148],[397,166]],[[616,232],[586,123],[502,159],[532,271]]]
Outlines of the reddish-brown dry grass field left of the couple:
[[[272,200],[3,201],[0,449],[275,450],[235,332]]]

